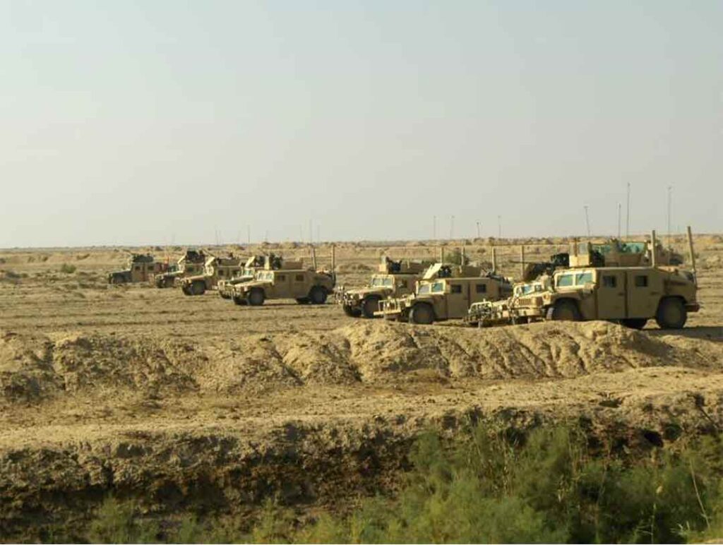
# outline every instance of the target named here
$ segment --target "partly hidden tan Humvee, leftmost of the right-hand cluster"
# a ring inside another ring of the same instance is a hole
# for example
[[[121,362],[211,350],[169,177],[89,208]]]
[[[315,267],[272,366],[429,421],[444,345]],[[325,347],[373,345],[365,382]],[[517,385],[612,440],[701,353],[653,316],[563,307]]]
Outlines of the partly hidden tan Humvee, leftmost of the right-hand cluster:
[[[347,316],[373,318],[374,313],[379,310],[382,299],[414,293],[416,281],[422,278],[422,273],[429,265],[429,263],[392,261],[388,257],[382,257],[379,272],[372,275],[369,286],[356,290],[337,288],[334,292],[336,302],[341,304]]]

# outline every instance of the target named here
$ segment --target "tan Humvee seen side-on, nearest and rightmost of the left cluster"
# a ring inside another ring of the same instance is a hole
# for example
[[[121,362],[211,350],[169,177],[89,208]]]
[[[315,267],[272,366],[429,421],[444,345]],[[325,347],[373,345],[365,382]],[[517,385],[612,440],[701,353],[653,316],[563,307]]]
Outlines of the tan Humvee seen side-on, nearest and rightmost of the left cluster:
[[[269,260],[254,279],[233,286],[231,299],[236,304],[260,306],[266,299],[296,299],[299,304],[324,304],[334,290],[334,273],[304,269],[301,262],[284,261],[274,270]]]

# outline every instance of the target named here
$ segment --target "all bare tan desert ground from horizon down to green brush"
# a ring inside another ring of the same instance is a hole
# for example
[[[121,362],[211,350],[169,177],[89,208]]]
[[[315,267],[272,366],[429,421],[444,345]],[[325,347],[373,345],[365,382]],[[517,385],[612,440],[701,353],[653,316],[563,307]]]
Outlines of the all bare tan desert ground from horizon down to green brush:
[[[483,420],[584,421],[630,448],[723,425],[723,236],[696,236],[698,300],[684,330],[654,322],[553,322],[484,330],[352,319],[323,306],[236,306],[108,286],[128,251],[0,250],[0,538],[87,517],[109,493],[148,512],[239,516],[275,495],[342,509],[393,487],[416,434]],[[382,255],[431,258],[464,244],[502,272],[565,239],[337,244],[338,284]],[[687,257],[682,236],[671,244]],[[304,258],[301,244],[213,248]],[[330,246],[317,246],[328,265]],[[64,267],[64,265],[66,265]],[[65,271],[65,272],[63,272]]]

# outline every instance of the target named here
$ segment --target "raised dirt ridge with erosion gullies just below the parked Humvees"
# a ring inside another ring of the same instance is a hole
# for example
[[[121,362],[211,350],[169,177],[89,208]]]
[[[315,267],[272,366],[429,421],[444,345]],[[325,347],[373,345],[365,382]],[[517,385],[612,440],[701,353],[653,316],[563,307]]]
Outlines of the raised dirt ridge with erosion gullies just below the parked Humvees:
[[[718,369],[723,349],[607,322],[468,330],[358,322],[328,333],[239,335],[223,343],[123,335],[0,333],[0,398],[152,391],[264,391],[405,379],[579,377],[647,366]]]

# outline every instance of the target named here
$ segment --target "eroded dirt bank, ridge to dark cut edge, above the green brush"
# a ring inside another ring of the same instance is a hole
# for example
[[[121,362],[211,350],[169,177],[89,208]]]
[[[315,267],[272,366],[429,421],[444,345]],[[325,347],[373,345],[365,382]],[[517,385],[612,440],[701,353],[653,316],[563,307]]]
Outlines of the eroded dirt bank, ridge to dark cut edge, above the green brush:
[[[573,419],[649,447],[723,422],[720,336],[605,322],[354,322],[186,338],[0,332],[0,539],[71,531],[108,493],[151,515],[337,505],[394,486],[414,436]]]

